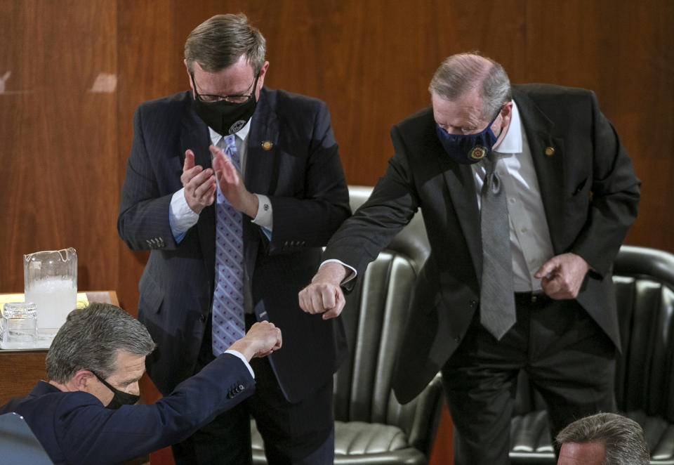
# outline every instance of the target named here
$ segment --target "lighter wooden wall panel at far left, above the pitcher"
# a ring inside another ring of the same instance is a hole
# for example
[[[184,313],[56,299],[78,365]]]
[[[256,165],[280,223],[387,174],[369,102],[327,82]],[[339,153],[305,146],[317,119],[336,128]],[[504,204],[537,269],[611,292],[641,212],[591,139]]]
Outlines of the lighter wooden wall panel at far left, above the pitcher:
[[[114,287],[117,198],[114,4],[4,1],[0,13],[0,291],[22,254],[74,247],[80,289]],[[112,176],[111,176],[112,174]],[[113,253],[111,253],[113,252]]]

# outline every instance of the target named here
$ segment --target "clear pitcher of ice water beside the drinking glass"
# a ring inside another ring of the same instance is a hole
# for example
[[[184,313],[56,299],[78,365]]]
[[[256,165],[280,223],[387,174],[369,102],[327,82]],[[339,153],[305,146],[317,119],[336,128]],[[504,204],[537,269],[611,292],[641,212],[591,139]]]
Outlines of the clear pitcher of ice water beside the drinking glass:
[[[23,256],[25,300],[37,306],[38,346],[51,339],[77,306],[77,253],[72,247]]]

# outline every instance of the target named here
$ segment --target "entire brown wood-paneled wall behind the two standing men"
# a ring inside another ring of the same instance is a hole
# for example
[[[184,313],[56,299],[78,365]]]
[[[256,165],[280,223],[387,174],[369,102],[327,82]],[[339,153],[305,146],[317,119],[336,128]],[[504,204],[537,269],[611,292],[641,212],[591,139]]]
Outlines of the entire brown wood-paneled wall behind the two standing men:
[[[79,287],[117,289],[136,313],[147,253],[115,228],[133,110],[187,89],[185,37],[237,11],[267,38],[267,85],[328,103],[353,184],[381,176],[390,126],[428,105],[452,53],[479,50],[513,82],[593,89],[643,181],[627,242],[674,251],[670,0],[4,0],[0,292],[22,290],[22,254],[75,247]]]

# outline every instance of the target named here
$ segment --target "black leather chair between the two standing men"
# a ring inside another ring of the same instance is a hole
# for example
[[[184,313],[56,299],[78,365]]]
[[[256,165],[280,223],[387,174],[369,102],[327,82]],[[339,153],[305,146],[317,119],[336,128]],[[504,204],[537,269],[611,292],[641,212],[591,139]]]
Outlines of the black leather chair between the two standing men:
[[[370,192],[350,186],[351,208]],[[440,375],[406,405],[397,402],[390,383],[414,281],[429,252],[417,214],[347,298],[342,318],[350,356],[334,376],[335,464],[428,462],[442,406]],[[254,421],[251,428],[253,463],[265,464]]]

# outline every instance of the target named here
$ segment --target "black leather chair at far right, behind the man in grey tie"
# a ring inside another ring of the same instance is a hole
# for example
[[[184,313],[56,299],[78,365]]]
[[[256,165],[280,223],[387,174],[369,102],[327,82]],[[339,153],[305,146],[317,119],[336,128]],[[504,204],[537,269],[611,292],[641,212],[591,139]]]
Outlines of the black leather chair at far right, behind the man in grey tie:
[[[623,246],[613,280],[622,341],[618,409],[644,428],[651,464],[674,464],[674,255]],[[511,463],[555,464],[543,409],[522,372],[511,424]]]

